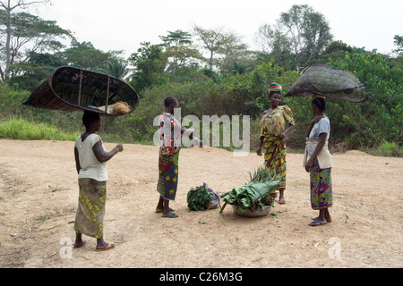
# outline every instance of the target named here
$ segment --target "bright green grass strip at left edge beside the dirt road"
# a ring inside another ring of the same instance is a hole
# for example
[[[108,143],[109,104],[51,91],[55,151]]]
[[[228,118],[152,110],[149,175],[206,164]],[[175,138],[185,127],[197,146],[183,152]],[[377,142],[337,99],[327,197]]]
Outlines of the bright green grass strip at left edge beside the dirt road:
[[[46,123],[10,119],[0,122],[0,139],[74,141],[80,132],[66,133]]]

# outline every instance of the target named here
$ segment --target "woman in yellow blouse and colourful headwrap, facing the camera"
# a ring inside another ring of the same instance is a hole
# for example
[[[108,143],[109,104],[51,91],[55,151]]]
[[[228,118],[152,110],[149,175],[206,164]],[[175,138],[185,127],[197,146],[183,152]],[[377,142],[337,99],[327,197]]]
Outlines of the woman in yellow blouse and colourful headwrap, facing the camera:
[[[278,83],[269,85],[270,109],[263,112],[260,122],[261,137],[257,155],[262,156],[262,147],[266,149],[264,162],[270,170],[273,170],[281,184],[279,188],[279,204],[285,204],[284,191],[286,189],[287,172],[287,146],[286,136],[292,130],[296,122],[293,112],[287,105],[280,106],[282,86]]]

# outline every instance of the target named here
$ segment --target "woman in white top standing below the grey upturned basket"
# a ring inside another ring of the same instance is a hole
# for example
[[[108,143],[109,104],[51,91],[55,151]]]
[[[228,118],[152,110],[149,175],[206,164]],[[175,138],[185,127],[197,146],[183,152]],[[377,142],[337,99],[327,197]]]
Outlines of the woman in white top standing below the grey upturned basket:
[[[306,147],[304,168],[310,173],[311,206],[319,210],[319,216],[313,218],[309,225],[318,226],[331,223],[329,207],[333,205],[331,188],[332,161],[328,149],[330,139],[330,120],[324,114],[326,102],[324,97],[314,96],[312,113],[315,116],[306,130]]]

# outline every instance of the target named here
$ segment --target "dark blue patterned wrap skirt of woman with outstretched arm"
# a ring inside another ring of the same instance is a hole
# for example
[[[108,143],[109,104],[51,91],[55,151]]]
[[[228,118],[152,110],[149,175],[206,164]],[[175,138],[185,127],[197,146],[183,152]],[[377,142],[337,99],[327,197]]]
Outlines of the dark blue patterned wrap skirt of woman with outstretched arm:
[[[175,200],[179,172],[179,152],[174,155],[159,154],[159,195],[168,200]]]

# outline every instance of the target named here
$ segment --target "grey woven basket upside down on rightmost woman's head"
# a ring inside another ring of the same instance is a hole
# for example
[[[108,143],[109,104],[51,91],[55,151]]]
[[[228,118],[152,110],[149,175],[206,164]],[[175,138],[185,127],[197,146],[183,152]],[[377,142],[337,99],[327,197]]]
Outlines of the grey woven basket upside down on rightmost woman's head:
[[[349,71],[326,64],[310,66],[287,92],[285,97],[312,97],[321,95],[350,102],[364,102],[364,84]]]

